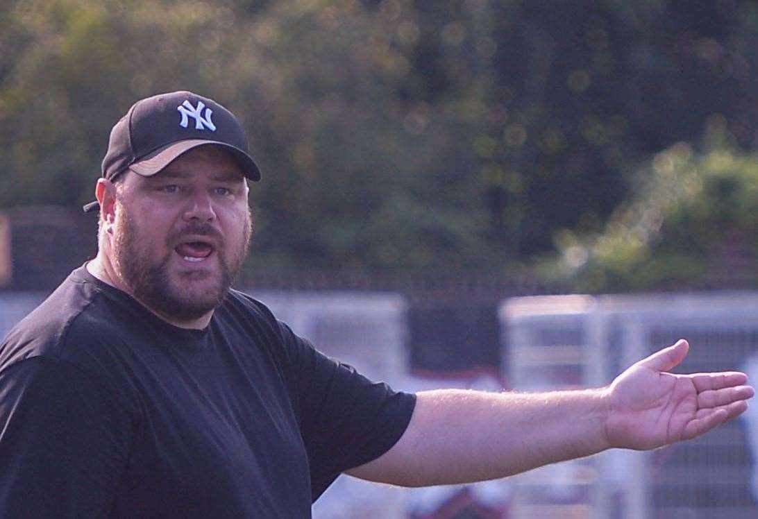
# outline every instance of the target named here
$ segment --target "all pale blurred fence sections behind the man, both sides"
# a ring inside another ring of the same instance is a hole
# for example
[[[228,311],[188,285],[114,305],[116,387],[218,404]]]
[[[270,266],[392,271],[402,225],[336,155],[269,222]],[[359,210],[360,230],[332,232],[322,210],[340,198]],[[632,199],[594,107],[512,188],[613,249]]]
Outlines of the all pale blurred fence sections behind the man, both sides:
[[[679,337],[681,372],[747,370],[758,380],[758,294],[509,299],[500,306],[503,370],[410,368],[404,299],[390,292],[250,291],[296,333],[398,389],[546,390],[602,386]],[[44,299],[0,294],[0,335]],[[758,516],[758,412],[653,452],[613,450],[471,486],[399,489],[340,477],[314,506],[318,519],[540,517],[741,519]]]

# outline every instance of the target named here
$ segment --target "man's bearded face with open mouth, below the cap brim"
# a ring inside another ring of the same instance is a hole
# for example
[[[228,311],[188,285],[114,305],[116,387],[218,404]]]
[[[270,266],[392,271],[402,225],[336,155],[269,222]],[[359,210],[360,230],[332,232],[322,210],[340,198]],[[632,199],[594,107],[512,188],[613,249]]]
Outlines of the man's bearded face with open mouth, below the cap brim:
[[[111,261],[136,299],[186,322],[218,306],[248,250],[247,183],[230,153],[206,145],[153,177],[124,173]]]

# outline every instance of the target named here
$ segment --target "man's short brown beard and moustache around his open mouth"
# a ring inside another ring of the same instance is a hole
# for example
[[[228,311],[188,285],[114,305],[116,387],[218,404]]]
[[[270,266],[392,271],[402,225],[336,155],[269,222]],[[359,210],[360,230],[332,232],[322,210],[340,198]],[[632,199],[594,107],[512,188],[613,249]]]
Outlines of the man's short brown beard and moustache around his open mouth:
[[[236,250],[228,249],[228,240],[208,224],[191,222],[182,230],[171,233],[166,239],[169,252],[163,258],[155,258],[149,251],[149,240],[141,236],[124,205],[121,205],[121,225],[114,227],[114,267],[124,283],[131,289],[135,299],[164,317],[178,322],[199,319],[213,311],[224,300],[228,289],[240,272],[248,254],[252,224],[250,212],[246,214],[243,236]],[[211,236],[216,239],[219,269],[215,272],[192,272],[179,274],[179,280],[172,280],[168,271],[171,255],[175,254],[171,244],[184,235]],[[235,241],[235,240],[232,240]],[[181,279],[186,277],[186,279]],[[193,280],[205,281],[215,277],[215,283],[204,283],[204,287],[193,289]]]

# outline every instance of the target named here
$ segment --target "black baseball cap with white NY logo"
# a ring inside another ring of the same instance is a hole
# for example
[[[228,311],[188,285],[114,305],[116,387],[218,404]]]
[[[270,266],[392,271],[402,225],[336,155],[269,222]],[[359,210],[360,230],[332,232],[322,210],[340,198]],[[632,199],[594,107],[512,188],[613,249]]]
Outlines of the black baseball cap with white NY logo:
[[[240,121],[213,99],[184,90],[140,99],[129,108],[111,130],[102,176],[111,180],[132,170],[151,177],[183,153],[206,144],[228,149],[247,178],[261,180]],[[86,212],[99,209],[98,202],[84,206]]]

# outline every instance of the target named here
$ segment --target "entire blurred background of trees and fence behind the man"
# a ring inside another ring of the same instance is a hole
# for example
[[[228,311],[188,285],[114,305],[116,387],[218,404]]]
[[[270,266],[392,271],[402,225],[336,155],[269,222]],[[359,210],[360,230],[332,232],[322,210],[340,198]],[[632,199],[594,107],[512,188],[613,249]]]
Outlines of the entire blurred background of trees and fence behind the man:
[[[597,385],[676,333],[682,369],[758,371],[756,79],[738,0],[2,0],[0,333],[96,252],[113,124],[189,89],[263,172],[238,286],[369,374]],[[338,480],[314,513],[755,517],[750,430],[480,486]]]

